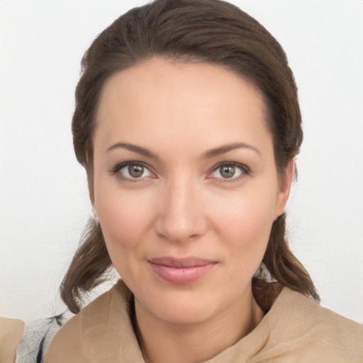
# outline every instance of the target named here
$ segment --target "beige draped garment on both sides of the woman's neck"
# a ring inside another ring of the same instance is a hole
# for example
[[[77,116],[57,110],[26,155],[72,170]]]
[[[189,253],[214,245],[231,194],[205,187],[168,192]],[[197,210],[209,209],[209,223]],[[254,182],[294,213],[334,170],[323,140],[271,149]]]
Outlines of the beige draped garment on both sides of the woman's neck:
[[[56,333],[45,363],[143,363],[120,281]],[[363,363],[363,325],[283,289],[255,330],[208,363]]]

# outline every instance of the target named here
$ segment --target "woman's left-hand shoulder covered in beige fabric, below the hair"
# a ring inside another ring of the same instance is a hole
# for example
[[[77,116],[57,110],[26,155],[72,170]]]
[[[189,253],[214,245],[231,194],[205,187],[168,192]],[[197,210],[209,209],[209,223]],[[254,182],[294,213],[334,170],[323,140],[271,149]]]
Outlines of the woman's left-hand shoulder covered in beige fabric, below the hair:
[[[85,306],[52,338],[45,363],[118,362],[115,354],[121,345],[137,345],[130,320],[131,298],[127,287],[118,282]]]

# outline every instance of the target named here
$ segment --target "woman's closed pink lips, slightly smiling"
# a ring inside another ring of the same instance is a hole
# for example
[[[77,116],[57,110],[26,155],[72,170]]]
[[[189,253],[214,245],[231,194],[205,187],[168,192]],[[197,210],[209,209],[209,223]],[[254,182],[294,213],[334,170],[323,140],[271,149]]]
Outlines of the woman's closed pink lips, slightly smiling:
[[[191,284],[208,274],[217,264],[215,261],[197,257],[159,257],[149,259],[148,262],[157,277],[171,284]]]

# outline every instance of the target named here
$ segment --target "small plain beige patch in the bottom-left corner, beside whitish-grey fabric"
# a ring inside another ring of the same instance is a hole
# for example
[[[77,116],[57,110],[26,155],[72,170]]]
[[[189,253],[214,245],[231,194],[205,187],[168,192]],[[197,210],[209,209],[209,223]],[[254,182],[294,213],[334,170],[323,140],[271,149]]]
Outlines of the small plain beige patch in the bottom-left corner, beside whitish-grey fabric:
[[[15,362],[16,347],[21,341],[23,330],[24,323],[22,320],[0,316],[0,362]]]

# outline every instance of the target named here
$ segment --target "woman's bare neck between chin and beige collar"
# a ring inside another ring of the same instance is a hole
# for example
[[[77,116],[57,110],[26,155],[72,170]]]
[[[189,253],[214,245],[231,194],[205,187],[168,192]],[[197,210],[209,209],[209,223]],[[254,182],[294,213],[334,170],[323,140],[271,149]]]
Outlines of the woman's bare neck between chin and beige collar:
[[[174,324],[161,320],[135,300],[137,334],[146,363],[197,363],[216,357],[250,333],[263,313],[252,293],[216,316],[195,324]]]

